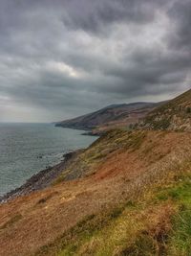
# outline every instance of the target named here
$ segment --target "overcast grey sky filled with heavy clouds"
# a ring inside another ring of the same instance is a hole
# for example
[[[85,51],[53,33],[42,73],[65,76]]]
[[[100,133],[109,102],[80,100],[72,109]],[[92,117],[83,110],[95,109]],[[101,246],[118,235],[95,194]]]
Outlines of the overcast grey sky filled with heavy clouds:
[[[0,0],[0,122],[190,88],[191,0]]]

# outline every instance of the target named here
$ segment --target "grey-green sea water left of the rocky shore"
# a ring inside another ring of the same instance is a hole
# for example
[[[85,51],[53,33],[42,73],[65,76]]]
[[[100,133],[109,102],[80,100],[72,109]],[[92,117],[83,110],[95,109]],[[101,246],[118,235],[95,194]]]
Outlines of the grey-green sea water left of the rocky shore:
[[[53,166],[63,154],[86,148],[96,137],[52,124],[0,124],[0,196]]]

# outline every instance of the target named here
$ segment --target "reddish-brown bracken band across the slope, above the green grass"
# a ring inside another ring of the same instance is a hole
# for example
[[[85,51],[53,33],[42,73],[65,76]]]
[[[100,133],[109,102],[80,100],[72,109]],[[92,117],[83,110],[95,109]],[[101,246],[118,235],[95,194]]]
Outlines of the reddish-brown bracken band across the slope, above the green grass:
[[[81,177],[0,205],[0,255],[32,255],[92,213],[137,197],[191,157],[191,133],[113,131],[82,152],[68,172]],[[110,152],[103,153],[105,146]],[[97,151],[97,158],[90,158]],[[102,153],[102,154],[101,154]],[[91,161],[90,161],[91,160]]]

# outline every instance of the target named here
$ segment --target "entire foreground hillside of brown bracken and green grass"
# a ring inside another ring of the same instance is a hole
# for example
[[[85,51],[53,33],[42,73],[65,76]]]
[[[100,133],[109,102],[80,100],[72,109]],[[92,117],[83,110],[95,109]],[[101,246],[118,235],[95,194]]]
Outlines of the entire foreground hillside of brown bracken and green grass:
[[[50,188],[0,205],[0,255],[190,255],[190,140],[104,134]]]

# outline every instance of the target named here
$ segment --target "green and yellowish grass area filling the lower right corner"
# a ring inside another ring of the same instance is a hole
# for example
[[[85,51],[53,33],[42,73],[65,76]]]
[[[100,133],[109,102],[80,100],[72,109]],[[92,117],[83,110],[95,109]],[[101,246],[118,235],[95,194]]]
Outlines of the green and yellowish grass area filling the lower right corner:
[[[191,162],[144,195],[87,216],[35,255],[191,254]]]

